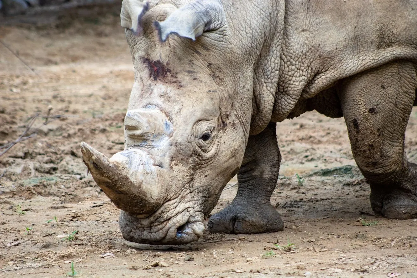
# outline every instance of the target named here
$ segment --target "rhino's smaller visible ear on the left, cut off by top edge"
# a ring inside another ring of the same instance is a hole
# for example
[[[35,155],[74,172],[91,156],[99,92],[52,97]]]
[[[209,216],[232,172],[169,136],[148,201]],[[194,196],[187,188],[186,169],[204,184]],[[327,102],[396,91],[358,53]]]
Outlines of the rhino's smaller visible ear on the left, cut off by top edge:
[[[148,11],[149,3],[143,3],[141,0],[123,0],[122,10],[120,13],[120,25],[130,29],[134,35],[142,32],[141,19]]]

